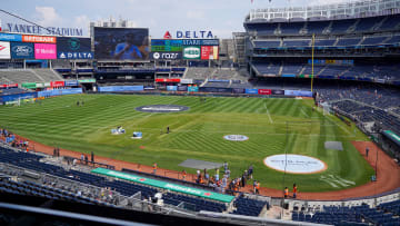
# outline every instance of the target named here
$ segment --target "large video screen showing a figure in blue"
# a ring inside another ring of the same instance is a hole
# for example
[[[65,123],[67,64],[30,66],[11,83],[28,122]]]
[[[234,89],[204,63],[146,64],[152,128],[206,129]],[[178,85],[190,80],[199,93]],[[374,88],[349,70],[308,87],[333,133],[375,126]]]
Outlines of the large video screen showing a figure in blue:
[[[148,60],[149,29],[94,27],[94,55],[100,60]]]

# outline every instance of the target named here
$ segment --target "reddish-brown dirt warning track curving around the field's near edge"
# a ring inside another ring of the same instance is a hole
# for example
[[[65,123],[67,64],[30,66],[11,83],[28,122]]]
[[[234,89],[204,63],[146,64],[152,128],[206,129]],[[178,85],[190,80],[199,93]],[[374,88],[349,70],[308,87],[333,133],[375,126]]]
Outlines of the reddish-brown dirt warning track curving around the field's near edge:
[[[17,135],[17,138],[21,139],[21,140],[28,140],[29,149],[31,149],[31,150],[34,149],[34,151],[43,153],[47,155],[53,155],[53,150],[56,147],[46,146],[43,144],[37,143],[34,140],[29,140],[29,139],[20,137],[18,135]],[[369,196],[372,197],[378,194],[388,193],[388,191],[394,190],[400,187],[400,180],[394,179],[394,178],[400,178],[400,167],[396,164],[396,161],[393,161],[392,158],[390,158],[388,155],[386,155],[384,151],[382,151],[376,144],[373,144],[371,141],[353,141],[352,144],[357,148],[357,150],[360,151],[360,155],[362,155],[366,158],[366,160],[368,160],[368,163],[373,168],[377,169],[377,178],[379,178],[379,179],[377,179],[377,181],[370,181],[370,183],[359,186],[359,187],[338,190],[338,191],[324,191],[324,193],[299,191],[297,198],[303,199],[303,200],[344,200],[344,199],[352,199],[352,198],[363,198],[363,197],[369,197]],[[364,155],[364,150],[367,147],[369,147],[371,149],[370,154],[369,154],[370,156],[377,156],[377,151],[379,153],[378,155],[380,156],[379,157],[380,160],[378,163],[376,161],[374,158],[371,158],[371,157],[368,158]],[[146,147],[141,147],[141,148],[146,149]],[[76,159],[80,159],[81,155],[82,155],[81,153],[77,153],[73,150],[60,149],[59,151],[60,151],[59,153],[60,156],[72,157]],[[132,170],[138,170],[138,171],[147,173],[147,174],[153,173],[152,166],[146,166],[146,165],[139,165],[139,164],[123,161],[123,160],[104,158],[101,156],[96,156],[96,161],[100,163],[100,164],[113,166],[117,170],[132,169]],[[81,163],[81,164],[84,164],[84,163]],[[376,164],[378,164],[378,166]],[[163,169],[163,168],[157,169],[157,175],[160,175],[160,176],[167,175],[167,177],[170,177],[173,179],[182,179],[182,176],[180,174],[181,174],[180,171],[173,171],[170,169]],[[188,181],[191,180],[192,183],[194,183],[196,178],[197,178],[197,175],[188,175],[187,176]],[[253,187],[252,187],[252,185],[247,185],[246,187],[240,188],[239,191],[251,194],[251,193],[253,193]],[[261,186],[260,195],[271,196],[271,197],[282,197],[283,191],[277,190],[277,189],[271,189],[271,188],[268,188],[268,185],[263,185],[263,186]]]

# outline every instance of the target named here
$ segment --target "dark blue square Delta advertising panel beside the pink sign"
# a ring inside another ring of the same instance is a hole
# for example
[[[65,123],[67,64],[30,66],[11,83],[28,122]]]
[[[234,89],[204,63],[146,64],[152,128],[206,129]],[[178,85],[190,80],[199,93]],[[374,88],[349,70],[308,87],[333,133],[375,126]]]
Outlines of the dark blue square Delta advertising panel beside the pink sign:
[[[57,56],[59,59],[93,59],[90,38],[57,39]]]

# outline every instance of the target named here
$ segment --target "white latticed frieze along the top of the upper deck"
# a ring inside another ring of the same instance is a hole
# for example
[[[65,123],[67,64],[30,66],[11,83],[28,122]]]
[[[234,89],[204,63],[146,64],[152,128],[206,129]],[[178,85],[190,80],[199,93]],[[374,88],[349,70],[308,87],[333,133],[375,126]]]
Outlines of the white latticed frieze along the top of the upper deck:
[[[400,13],[400,0],[364,0],[310,7],[253,9],[247,22],[363,18]]]

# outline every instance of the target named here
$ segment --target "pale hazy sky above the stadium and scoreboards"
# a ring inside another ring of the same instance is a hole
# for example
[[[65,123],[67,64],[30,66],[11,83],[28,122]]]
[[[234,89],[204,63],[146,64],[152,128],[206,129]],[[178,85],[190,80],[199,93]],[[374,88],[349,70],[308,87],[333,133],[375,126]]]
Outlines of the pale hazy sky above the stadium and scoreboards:
[[[153,38],[169,30],[210,30],[220,38],[243,31],[243,20],[251,9],[312,6],[350,0],[1,0],[0,9],[43,27],[83,28],[89,36],[90,21],[127,19],[136,27],[149,28]],[[24,23],[0,12],[2,27]]]

